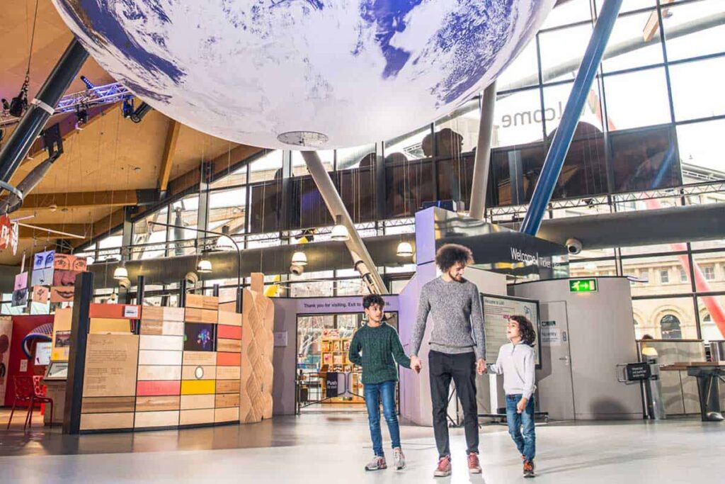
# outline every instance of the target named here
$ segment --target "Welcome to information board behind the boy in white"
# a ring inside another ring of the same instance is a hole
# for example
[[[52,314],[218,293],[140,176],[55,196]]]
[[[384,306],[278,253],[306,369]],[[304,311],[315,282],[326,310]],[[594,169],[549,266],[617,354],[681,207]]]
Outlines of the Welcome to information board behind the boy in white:
[[[509,296],[481,294],[486,332],[486,357],[495,363],[499,349],[508,343],[506,324],[510,316],[526,316],[534,327],[537,341],[534,343],[537,368],[541,368],[541,339],[539,338],[539,301]]]

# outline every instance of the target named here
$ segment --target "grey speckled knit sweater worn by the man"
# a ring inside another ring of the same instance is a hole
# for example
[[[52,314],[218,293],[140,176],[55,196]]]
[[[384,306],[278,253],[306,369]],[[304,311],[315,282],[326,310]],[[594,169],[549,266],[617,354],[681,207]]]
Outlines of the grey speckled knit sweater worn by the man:
[[[418,356],[421,350],[428,313],[433,319],[431,350],[454,354],[475,351],[476,358],[486,358],[484,316],[476,284],[465,279],[445,282],[437,277],[423,286],[413,329],[412,355]]]

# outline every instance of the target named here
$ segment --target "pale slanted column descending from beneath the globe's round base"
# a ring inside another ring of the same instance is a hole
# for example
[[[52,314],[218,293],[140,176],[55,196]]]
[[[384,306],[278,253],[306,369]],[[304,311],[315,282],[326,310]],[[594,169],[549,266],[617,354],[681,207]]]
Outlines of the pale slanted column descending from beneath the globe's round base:
[[[360,272],[360,276],[363,277],[363,280],[368,284],[372,292],[376,294],[387,294],[388,290],[383,282],[383,278],[378,273],[378,267],[373,263],[373,258],[370,257],[363,238],[355,230],[355,224],[352,223],[352,218],[340,194],[337,192],[330,178],[330,174],[327,173],[327,170],[322,164],[320,155],[314,151],[303,151],[302,157],[305,159],[307,170],[310,171],[312,180],[315,181],[315,185],[320,190],[320,195],[325,200],[325,205],[327,205],[330,215],[333,219],[340,216],[342,223],[347,227],[349,239],[345,241],[345,245],[350,252],[355,268]]]

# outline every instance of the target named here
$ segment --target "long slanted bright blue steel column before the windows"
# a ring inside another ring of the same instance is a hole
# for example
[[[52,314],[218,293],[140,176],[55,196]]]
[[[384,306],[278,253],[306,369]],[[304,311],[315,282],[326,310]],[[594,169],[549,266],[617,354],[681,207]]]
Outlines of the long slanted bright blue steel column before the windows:
[[[592,32],[592,38],[589,39],[587,51],[584,52],[584,59],[581,60],[579,73],[576,74],[576,79],[574,79],[574,85],[566,102],[561,123],[556,130],[546,160],[544,160],[544,168],[542,168],[539,181],[536,188],[534,188],[534,194],[531,196],[529,210],[526,210],[526,217],[523,218],[520,231],[524,234],[536,235],[539,231],[547,205],[549,205],[551,196],[554,193],[556,181],[559,179],[561,168],[564,165],[566,153],[569,151],[569,146],[571,146],[574,130],[576,130],[577,123],[579,123],[581,110],[584,109],[584,102],[587,100],[589,89],[592,89],[592,83],[595,75],[597,75],[599,64],[602,62],[602,56],[621,6],[622,0],[605,0],[602,6],[602,12]]]

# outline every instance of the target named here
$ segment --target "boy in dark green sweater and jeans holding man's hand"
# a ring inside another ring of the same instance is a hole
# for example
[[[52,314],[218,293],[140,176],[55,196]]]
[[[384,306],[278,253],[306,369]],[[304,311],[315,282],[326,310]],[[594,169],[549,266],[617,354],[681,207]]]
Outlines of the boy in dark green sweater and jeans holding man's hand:
[[[395,409],[395,385],[398,380],[397,364],[410,368],[410,358],[405,355],[395,329],[383,321],[385,301],[377,294],[363,298],[363,308],[368,323],[355,332],[350,343],[349,360],[363,367],[365,405],[368,406],[370,437],[373,439],[375,456],[365,470],[386,469],[383,437],[380,432],[380,401],[388,423],[393,443],[394,467],[405,467],[405,456],[400,450],[400,430]],[[360,356],[362,351],[363,356]],[[394,359],[393,359],[394,358]],[[397,362],[397,364],[396,364]]]

